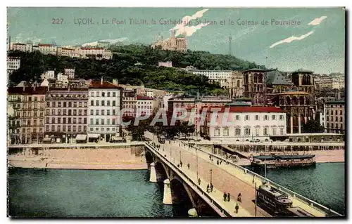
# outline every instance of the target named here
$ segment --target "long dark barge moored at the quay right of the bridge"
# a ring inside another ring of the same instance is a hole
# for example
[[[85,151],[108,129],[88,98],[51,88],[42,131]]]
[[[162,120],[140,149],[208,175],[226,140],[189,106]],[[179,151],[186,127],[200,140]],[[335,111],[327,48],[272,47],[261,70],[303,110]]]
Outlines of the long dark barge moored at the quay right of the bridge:
[[[269,154],[253,156],[251,166],[275,169],[279,167],[315,166],[315,154]]]

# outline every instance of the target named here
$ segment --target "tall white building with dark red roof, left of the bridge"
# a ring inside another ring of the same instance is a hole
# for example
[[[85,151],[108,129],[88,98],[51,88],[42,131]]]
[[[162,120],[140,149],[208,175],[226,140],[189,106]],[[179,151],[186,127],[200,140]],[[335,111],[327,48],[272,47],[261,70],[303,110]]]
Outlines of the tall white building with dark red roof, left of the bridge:
[[[89,85],[88,140],[108,142],[120,137],[122,88],[108,81],[92,81]]]

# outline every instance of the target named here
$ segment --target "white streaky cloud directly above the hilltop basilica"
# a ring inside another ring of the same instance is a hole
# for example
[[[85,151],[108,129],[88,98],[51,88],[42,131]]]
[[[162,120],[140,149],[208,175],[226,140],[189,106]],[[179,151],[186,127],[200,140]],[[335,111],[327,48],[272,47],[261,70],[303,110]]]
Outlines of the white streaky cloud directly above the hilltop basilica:
[[[177,25],[175,25],[175,27],[172,28],[173,30],[176,31],[175,36],[178,36],[180,34],[186,34],[187,37],[191,37],[191,35],[194,34],[198,29],[201,29],[202,27],[205,27],[206,25],[208,25],[208,23],[201,23],[196,26],[187,26],[189,21],[195,20],[196,18],[202,18],[203,13],[205,13],[208,10],[209,9],[206,8],[206,9],[203,9],[201,11],[194,13],[193,15],[184,16],[184,18],[182,18],[182,23],[177,24]],[[172,30],[172,29],[170,29],[170,30]]]

